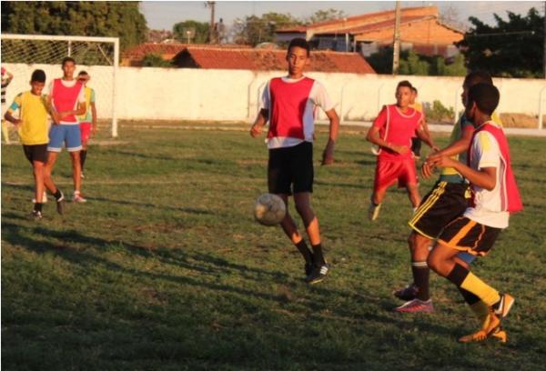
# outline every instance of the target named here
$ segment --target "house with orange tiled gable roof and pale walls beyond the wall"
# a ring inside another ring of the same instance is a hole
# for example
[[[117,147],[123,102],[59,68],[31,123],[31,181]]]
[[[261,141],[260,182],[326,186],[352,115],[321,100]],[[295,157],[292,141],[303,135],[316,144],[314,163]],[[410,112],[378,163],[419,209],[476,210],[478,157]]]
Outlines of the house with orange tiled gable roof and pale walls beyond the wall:
[[[278,42],[304,37],[319,50],[359,51],[369,56],[380,47],[394,43],[394,10],[349,16],[307,26],[276,31]],[[400,45],[402,50],[415,50],[423,55],[451,57],[459,54],[454,43],[464,33],[439,19],[436,6],[401,9]]]

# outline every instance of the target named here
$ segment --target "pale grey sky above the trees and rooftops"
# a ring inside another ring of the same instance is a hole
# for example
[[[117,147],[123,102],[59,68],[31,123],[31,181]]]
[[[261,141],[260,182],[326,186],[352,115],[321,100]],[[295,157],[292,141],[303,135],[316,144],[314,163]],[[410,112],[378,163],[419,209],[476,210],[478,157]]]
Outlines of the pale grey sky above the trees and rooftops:
[[[544,14],[543,1],[403,1],[402,7],[436,5],[440,14],[449,8],[455,9],[460,23],[470,26],[470,15],[482,22],[495,25],[493,14],[506,19],[506,12],[527,14],[535,7]],[[224,19],[232,25],[236,18],[247,15],[262,15],[268,12],[289,13],[295,17],[308,17],[318,10],[334,8],[346,15],[362,15],[394,9],[394,1],[217,1],[215,18]],[[143,1],[140,10],[146,16],[147,26],[152,29],[172,30],[173,25],[186,20],[210,21],[210,10],[204,1]]]

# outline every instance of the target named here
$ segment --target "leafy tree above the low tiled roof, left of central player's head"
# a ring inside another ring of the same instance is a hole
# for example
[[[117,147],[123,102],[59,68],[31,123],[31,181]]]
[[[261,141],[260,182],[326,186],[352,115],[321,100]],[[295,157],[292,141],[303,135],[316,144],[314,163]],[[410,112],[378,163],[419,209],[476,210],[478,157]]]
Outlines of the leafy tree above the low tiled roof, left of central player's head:
[[[237,44],[258,45],[275,41],[275,31],[292,25],[302,25],[298,18],[289,14],[266,13],[261,17],[249,15],[234,21],[232,33]]]

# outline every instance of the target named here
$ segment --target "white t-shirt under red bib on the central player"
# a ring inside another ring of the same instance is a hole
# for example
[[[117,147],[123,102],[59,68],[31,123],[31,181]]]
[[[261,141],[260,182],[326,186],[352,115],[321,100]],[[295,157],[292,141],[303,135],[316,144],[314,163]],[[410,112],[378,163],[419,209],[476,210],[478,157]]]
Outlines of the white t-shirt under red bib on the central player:
[[[282,77],[282,81],[288,84],[298,83],[305,76],[302,76],[298,79],[292,79],[288,76]],[[268,85],[264,88],[264,92],[261,98],[260,109],[268,109],[269,115],[271,105],[271,94],[269,91],[269,82]],[[308,101],[305,106],[305,111],[303,114],[303,133],[305,139],[290,137],[290,136],[275,136],[269,139],[266,139],[268,148],[281,148],[298,145],[303,141],[313,142],[313,133],[315,132],[315,116],[317,114],[318,108],[321,108],[324,112],[328,112],[330,109],[334,108],[326,88],[324,85],[320,84],[317,80],[314,81],[313,87],[311,88],[308,96]]]

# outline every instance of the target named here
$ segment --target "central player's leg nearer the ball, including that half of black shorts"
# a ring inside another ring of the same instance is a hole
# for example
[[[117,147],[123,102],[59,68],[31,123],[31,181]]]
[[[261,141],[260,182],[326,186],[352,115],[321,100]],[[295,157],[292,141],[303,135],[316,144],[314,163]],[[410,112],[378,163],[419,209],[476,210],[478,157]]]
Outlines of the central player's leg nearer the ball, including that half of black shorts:
[[[269,149],[268,191],[281,197],[287,206],[287,214],[280,223],[280,226],[294,246],[298,248],[301,256],[303,256],[305,260],[304,271],[305,275],[308,276],[313,266],[313,256],[305,239],[299,233],[298,226],[288,212],[288,196],[291,195],[290,184],[292,182],[289,160],[289,148]]]

